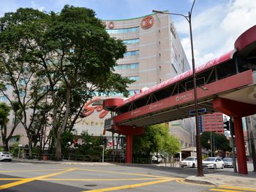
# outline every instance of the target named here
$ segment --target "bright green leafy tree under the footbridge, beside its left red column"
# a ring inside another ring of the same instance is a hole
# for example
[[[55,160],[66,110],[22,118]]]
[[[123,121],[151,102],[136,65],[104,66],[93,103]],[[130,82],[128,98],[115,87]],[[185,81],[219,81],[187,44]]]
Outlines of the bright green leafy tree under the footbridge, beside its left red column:
[[[146,158],[149,158],[151,153],[158,153],[162,150],[173,155],[180,150],[180,147],[180,141],[173,135],[170,135],[167,124],[148,126],[145,129],[145,133],[134,137],[133,141],[135,155],[143,154]]]

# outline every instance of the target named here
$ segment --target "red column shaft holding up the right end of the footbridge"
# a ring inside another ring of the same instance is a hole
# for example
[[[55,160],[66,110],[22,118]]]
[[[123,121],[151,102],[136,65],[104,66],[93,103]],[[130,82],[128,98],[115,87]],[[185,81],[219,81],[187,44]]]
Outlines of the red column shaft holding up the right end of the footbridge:
[[[244,131],[241,117],[234,117],[234,129],[236,136],[236,153],[238,158],[238,173],[248,174],[246,153],[244,147]]]

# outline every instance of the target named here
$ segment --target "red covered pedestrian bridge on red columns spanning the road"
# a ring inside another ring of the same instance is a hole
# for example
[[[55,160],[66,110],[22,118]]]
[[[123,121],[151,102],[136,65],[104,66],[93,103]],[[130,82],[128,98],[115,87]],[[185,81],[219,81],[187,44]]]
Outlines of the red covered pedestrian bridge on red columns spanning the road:
[[[233,50],[195,70],[198,109],[233,117],[238,173],[248,174],[241,118],[256,113],[256,26],[236,39]],[[143,134],[144,127],[195,115],[193,91],[190,70],[129,99],[103,101],[112,112],[105,129],[127,137],[127,163],[132,163],[132,137]]]

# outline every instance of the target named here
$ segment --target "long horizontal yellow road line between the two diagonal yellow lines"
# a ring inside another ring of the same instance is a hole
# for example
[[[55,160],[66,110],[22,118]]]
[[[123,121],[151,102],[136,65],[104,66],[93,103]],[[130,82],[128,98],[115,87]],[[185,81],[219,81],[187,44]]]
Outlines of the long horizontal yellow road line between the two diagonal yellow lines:
[[[58,179],[58,178],[46,178],[42,180],[59,180],[59,181],[126,181],[126,180],[161,180],[159,178],[124,178],[124,179]]]

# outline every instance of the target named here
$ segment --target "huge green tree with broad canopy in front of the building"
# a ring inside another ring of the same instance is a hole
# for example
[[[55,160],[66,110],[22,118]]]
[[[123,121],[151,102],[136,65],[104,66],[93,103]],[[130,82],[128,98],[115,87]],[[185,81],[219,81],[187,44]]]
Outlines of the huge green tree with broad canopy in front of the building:
[[[67,128],[72,130],[83,104],[95,95],[95,91],[128,93],[127,84],[132,81],[113,72],[126,47],[121,40],[108,35],[93,10],[83,7],[66,5],[61,12],[50,14],[20,8],[1,18],[0,30],[0,62],[5,66],[8,66],[7,61],[12,64],[8,71],[16,75],[12,79],[17,81],[20,73],[16,68],[24,69],[26,65],[29,69],[26,79],[38,81],[31,85],[48,86],[56,160],[61,160],[61,135]],[[36,109],[45,96],[34,92],[36,90],[39,88],[30,93],[34,96],[29,99],[32,109]],[[17,96],[18,91],[17,88]],[[23,126],[31,144],[29,131],[32,126],[26,127],[27,106],[20,105],[24,110]],[[34,120],[34,116],[30,119]]]

